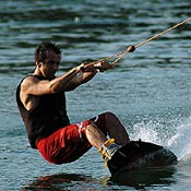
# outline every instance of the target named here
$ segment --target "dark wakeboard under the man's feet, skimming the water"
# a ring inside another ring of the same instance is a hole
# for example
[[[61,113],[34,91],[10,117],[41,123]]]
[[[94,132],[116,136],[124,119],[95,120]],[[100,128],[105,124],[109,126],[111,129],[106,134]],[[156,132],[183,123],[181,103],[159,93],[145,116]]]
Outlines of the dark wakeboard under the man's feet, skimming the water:
[[[107,162],[111,176],[145,167],[177,164],[177,156],[169,150],[150,142],[130,141]]]

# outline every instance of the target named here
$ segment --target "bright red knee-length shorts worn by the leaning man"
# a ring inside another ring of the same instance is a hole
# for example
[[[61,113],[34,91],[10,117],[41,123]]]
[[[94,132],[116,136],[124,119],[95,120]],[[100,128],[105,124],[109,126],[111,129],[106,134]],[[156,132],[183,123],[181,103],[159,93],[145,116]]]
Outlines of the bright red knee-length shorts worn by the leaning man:
[[[85,154],[92,145],[86,139],[85,128],[94,122],[105,135],[107,134],[105,115],[59,129],[48,138],[37,142],[41,156],[52,164],[71,163]]]

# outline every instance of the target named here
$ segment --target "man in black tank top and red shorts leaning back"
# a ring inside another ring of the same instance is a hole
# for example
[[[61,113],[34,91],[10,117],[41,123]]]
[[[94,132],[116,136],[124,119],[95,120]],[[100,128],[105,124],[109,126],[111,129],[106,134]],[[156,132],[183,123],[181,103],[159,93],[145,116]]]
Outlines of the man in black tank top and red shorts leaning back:
[[[129,142],[129,135],[111,112],[76,124],[70,124],[64,93],[92,80],[110,64],[81,64],[56,76],[61,60],[60,49],[52,43],[41,43],[35,51],[35,71],[24,77],[16,89],[16,102],[25,123],[32,148],[52,164],[76,160],[95,146],[106,160]],[[111,139],[107,139],[109,135]],[[115,142],[114,142],[114,140]]]

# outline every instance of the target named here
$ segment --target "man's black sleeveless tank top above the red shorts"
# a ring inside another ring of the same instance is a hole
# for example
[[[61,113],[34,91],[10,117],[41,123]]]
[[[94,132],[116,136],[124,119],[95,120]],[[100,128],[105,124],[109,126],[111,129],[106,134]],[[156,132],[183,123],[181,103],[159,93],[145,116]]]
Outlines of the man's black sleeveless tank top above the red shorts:
[[[37,75],[33,76],[38,80],[47,80]],[[70,124],[65,110],[65,94],[60,92],[40,96],[39,104],[28,111],[20,99],[21,83],[16,89],[16,103],[26,128],[29,144],[33,148],[36,148],[35,142],[38,138],[46,138],[58,129]]]

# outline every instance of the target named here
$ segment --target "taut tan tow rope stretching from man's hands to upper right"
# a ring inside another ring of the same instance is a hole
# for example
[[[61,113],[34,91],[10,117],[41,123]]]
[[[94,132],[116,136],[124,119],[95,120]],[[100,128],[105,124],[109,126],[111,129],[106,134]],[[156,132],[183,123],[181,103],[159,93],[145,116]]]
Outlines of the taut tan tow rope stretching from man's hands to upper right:
[[[110,63],[110,65],[115,65],[115,64],[116,64],[120,59],[122,59],[128,52],[133,52],[136,48],[139,48],[139,47],[141,47],[141,46],[147,44],[148,41],[151,41],[151,40],[153,40],[153,39],[155,39],[155,38],[158,38],[159,36],[162,36],[162,35],[164,35],[164,34],[170,32],[171,29],[175,29],[175,28],[177,28],[177,27],[183,25],[184,23],[189,22],[190,20],[191,20],[191,17],[189,17],[189,19],[187,19],[187,20],[184,20],[184,21],[182,21],[182,22],[176,24],[175,26],[169,27],[168,29],[166,29],[166,31],[164,31],[164,32],[162,32],[162,33],[158,33],[158,34],[152,36],[151,38],[147,38],[146,40],[144,40],[144,41],[142,41],[142,43],[135,45],[135,46],[130,46],[130,47],[128,47],[124,51],[121,51],[121,52],[116,53],[116,55],[112,55],[112,56],[110,56],[110,57],[106,57],[106,58],[104,58],[104,59],[100,59],[100,60],[91,62],[91,63],[88,63],[87,65],[94,65],[94,64],[96,65],[96,64],[97,64],[97,67],[98,67],[98,63],[99,63],[99,62],[106,61],[106,60],[110,60],[110,59],[114,58],[114,57],[118,57],[116,60],[114,60],[114,61]]]

